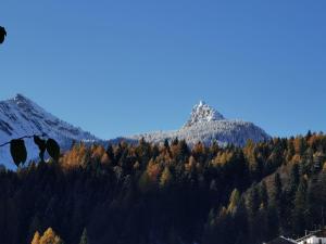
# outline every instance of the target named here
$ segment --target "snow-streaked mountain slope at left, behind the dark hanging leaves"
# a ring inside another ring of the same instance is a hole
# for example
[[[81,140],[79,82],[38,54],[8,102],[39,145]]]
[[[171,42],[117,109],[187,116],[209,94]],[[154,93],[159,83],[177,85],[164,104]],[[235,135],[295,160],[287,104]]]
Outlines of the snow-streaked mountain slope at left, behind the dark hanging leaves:
[[[0,102],[0,144],[11,139],[33,134],[46,134],[48,138],[53,138],[62,150],[68,149],[73,141],[99,140],[89,132],[49,114],[22,94]],[[37,158],[38,149],[33,139],[25,139],[25,144],[28,159]],[[9,145],[0,147],[0,164],[14,168],[11,162]]]

